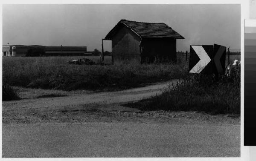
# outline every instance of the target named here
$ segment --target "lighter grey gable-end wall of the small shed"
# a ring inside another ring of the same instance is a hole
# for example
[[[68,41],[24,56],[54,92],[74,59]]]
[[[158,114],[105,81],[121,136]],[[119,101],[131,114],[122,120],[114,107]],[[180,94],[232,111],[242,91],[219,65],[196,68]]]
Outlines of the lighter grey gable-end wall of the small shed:
[[[122,27],[112,37],[113,63],[140,63],[140,37]]]

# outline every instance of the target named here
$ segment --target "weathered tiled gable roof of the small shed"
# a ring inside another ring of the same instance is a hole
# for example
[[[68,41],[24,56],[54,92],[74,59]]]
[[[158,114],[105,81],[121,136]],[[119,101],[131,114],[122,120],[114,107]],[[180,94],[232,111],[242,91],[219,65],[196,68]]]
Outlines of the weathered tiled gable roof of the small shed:
[[[124,24],[140,37],[171,37],[177,39],[184,39],[183,36],[175,32],[171,27],[169,27],[165,23],[144,23],[129,20],[120,20],[119,23],[117,23],[116,26],[108,33],[105,39],[112,38],[112,36],[115,35],[116,30],[119,29],[120,24]]]

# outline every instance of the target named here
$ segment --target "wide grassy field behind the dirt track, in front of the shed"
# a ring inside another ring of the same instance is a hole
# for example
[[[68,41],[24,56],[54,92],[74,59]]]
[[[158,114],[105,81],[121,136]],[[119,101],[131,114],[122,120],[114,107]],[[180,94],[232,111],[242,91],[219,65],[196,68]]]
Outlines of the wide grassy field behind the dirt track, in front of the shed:
[[[145,83],[183,78],[187,74],[185,64],[118,64],[111,65],[111,57],[105,57],[108,65],[73,65],[69,60],[99,57],[4,57],[3,83],[43,89],[115,90],[141,86]]]

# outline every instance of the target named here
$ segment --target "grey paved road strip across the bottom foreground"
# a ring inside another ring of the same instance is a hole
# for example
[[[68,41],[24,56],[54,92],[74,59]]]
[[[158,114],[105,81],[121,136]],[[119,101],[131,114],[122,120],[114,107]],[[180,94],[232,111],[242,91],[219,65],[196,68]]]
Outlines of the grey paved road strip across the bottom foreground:
[[[3,157],[239,157],[240,126],[145,123],[3,126]]]

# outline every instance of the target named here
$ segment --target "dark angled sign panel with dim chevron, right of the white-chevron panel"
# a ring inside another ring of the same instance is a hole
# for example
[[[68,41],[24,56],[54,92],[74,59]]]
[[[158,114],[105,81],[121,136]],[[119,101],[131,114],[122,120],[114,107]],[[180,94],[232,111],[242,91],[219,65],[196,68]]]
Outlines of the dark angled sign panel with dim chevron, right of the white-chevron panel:
[[[213,45],[213,72],[223,74],[225,72],[226,47],[214,44]]]

